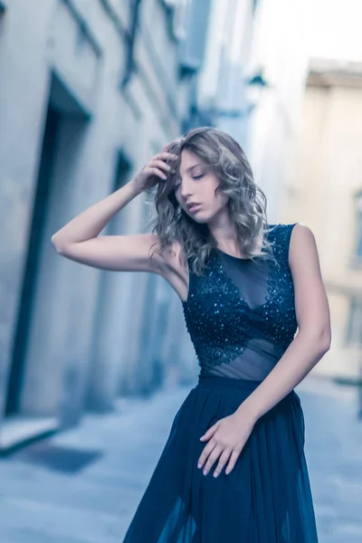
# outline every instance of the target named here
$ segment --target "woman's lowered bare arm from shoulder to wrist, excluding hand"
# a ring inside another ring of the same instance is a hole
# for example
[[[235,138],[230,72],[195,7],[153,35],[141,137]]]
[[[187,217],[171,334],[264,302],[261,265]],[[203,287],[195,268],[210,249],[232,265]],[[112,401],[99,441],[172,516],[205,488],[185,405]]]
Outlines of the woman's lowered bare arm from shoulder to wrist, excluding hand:
[[[299,331],[278,363],[235,412],[255,422],[308,375],[330,348],[329,302],[319,266],[317,244],[310,228],[295,224],[289,264],[294,284]]]

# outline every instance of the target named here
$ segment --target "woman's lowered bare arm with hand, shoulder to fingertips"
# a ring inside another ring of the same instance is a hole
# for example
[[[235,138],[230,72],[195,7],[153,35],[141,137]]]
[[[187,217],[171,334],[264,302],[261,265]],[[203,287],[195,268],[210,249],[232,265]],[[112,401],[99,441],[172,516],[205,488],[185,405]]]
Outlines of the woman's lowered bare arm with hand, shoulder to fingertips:
[[[294,225],[289,264],[299,331],[275,367],[243,404],[233,414],[216,421],[200,437],[201,441],[208,442],[197,464],[200,469],[204,468],[205,475],[218,459],[214,477],[222,472],[226,463],[225,473],[232,472],[257,420],[288,395],[329,350],[329,302],[321,278],[316,241],[308,226]]]

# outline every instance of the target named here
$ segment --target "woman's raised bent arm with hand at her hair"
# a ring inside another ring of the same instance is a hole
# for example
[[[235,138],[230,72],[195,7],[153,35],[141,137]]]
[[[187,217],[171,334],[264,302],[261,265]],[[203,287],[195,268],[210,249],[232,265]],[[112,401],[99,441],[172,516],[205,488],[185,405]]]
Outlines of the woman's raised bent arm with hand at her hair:
[[[123,207],[155,184],[155,176],[167,178],[170,167],[164,160],[173,157],[162,152],[151,159],[146,167],[125,186],[65,224],[52,235],[52,245],[62,256],[95,268],[114,271],[153,271],[163,274],[167,263],[159,252],[150,258],[149,252],[157,243],[157,235],[141,233],[134,235],[104,235],[100,232],[110,219]],[[158,179],[159,182],[159,179]]]

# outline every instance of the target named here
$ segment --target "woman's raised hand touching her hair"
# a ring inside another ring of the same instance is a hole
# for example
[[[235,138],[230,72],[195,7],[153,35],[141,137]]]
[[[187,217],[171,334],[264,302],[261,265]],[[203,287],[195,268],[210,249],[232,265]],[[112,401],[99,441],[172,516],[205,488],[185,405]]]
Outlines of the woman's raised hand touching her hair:
[[[167,162],[172,164],[178,157],[173,153],[168,153],[165,150],[166,148],[167,147],[165,147],[161,153],[158,153],[155,157],[148,160],[148,163],[133,178],[133,184],[139,192],[149,190],[153,186],[156,186],[160,179],[166,181],[168,174],[174,170],[174,167],[167,164]]]

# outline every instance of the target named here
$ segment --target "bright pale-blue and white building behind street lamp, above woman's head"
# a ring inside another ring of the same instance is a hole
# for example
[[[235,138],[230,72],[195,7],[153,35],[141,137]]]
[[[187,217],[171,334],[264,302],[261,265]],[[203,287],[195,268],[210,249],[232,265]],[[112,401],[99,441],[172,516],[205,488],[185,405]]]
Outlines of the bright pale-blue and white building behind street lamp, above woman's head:
[[[211,8],[191,124],[212,124],[241,144],[275,223],[300,122],[309,10],[302,0],[214,0]]]

